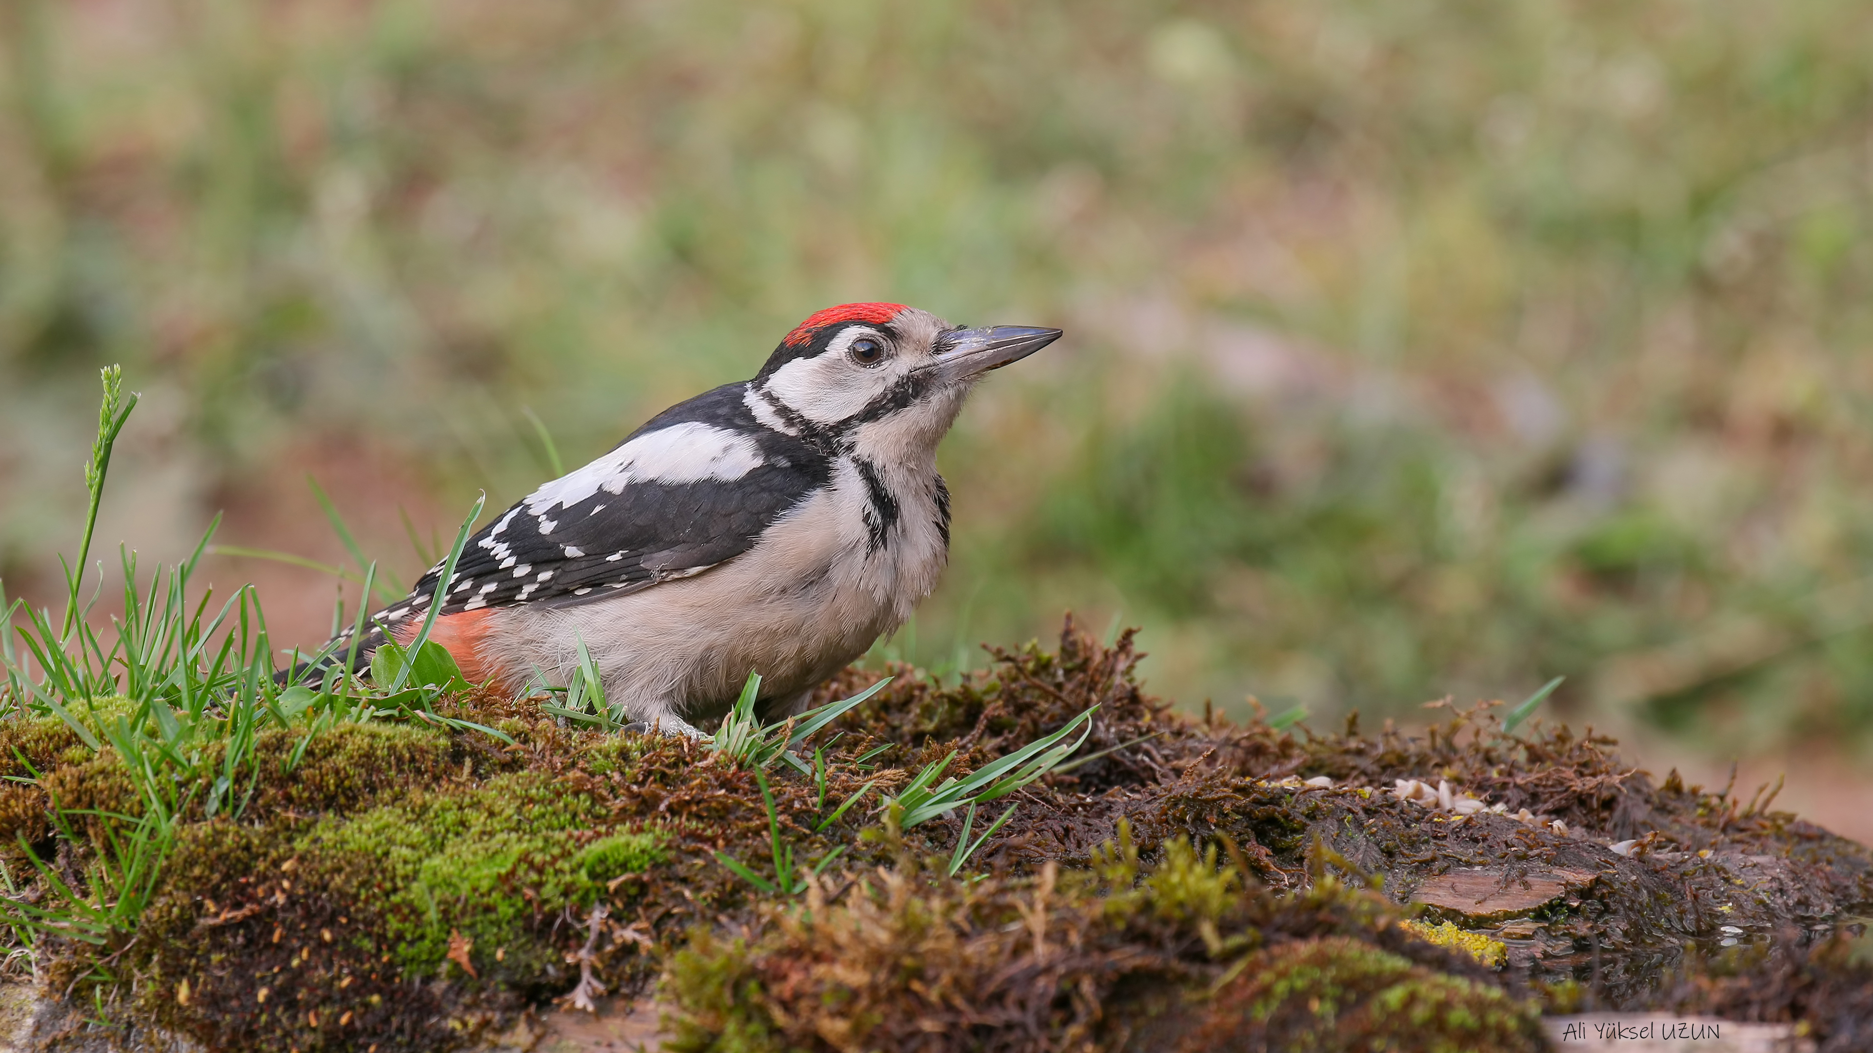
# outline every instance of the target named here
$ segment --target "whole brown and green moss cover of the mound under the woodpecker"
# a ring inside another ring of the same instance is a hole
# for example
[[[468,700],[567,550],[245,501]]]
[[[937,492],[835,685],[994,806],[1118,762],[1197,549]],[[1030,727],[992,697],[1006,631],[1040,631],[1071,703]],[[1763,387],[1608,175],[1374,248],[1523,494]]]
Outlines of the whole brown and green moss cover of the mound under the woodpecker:
[[[1674,778],[1654,787],[1603,738],[1508,738],[1489,710],[1452,712],[1422,736],[1364,736],[1350,721],[1339,734],[1197,721],[1139,688],[1137,660],[1129,633],[1107,648],[1068,624],[1058,650],[996,650],[991,669],[955,686],[899,669],[841,719],[824,800],[813,779],[770,772],[796,858],[845,851],[845,877],[828,877],[809,914],[717,860],[774,877],[768,813],[753,772],[693,742],[560,727],[536,703],[479,691],[440,712],[498,727],[511,746],[416,723],[343,725],[311,742],[270,729],[214,819],[206,781],[178,787],[187,808],[137,939],[47,939],[41,967],[94,1010],[99,997],[210,1047],[446,1049],[566,993],[581,972],[629,993],[671,963],[684,1042],[697,1049],[1068,1038],[1171,1049],[1259,1004],[1253,984],[1358,944],[1365,965],[1407,963],[1401,980],[1335,1002],[1332,1029],[1317,1031],[1360,1047],[1414,1017],[1442,1021],[1427,1034],[1465,1034],[1465,1021],[1519,1034],[1489,1016],[1508,1004],[1489,991],[1525,980],[1583,993],[1568,980],[1581,976],[1598,1004],[1637,1008],[1658,999],[1650,978],[1682,965],[1686,937],[1873,899],[1866,849],[1727,793]],[[847,671],[824,693],[873,676]],[[948,858],[961,815],[873,826],[877,794],[901,787],[907,766],[955,749],[953,770],[972,770],[1096,703],[1083,757],[1109,753],[1013,794],[1015,815],[970,860],[970,881],[920,862]],[[0,736],[30,746],[41,772],[37,787],[0,791],[0,823],[82,886],[105,851],[97,817],[73,817],[79,841],[66,843],[47,809],[135,815],[127,776],[64,725],[9,721]],[[880,744],[890,748],[860,766]],[[219,753],[206,755],[215,770]],[[1315,774],[1337,785],[1287,778]],[[1453,823],[1384,793],[1394,778],[1423,776],[1564,815],[1573,834],[1502,815]],[[867,781],[873,796],[819,830]],[[1605,847],[1631,830],[1658,830],[1650,854]],[[1776,860],[1772,881],[1740,894],[1749,875],[1738,868],[1762,858]],[[1538,935],[1510,941],[1521,963],[1547,957],[1497,976],[1395,924],[1418,884],[1476,866],[1508,882],[1543,868],[1601,877],[1538,918]],[[1322,942],[1335,939],[1350,944]],[[671,957],[678,946],[687,950]],[[1830,984],[1839,969],[1811,974]],[[1210,1001],[1217,982],[1234,993]],[[1255,1025],[1270,1047],[1315,1034],[1302,1027],[1315,1017],[1281,1016],[1290,1012]],[[905,1021],[936,1031],[893,1031]]]

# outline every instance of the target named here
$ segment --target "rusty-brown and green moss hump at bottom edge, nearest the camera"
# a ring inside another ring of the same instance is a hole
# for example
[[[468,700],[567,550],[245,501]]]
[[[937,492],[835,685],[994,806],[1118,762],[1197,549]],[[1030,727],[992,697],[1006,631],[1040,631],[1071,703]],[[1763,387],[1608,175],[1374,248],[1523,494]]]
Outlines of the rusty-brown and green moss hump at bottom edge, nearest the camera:
[[[1231,978],[1272,974],[1268,954],[1292,957],[1287,948],[1395,967],[1388,984],[1358,987],[1347,1034],[1401,1034],[1405,1019],[1442,1029],[1452,1049],[1530,1034],[1532,1012],[1487,971],[1407,937],[1395,918],[1384,899],[1330,877],[1277,896],[1187,841],[1148,871],[1124,841],[1092,873],[966,882],[899,866],[850,879],[832,901],[817,888],[804,907],[768,909],[742,937],[699,929],[671,961],[669,1047],[1128,1047],[1144,1034],[1152,1046],[1137,1047],[1167,1047],[1195,1019],[1180,1004],[1206,1001],[1217,982],[1231,991]],[[1334,984],[1294,999],[1339,997]],[[1379,995],[1392,1001],[1365,1004]],[[1217,1027],[1240,1016],[1227,999],[1219,1006],[1206,1017]],[[1262,1031],[1296,1049],[1313,1034],[1285,1017]]]

